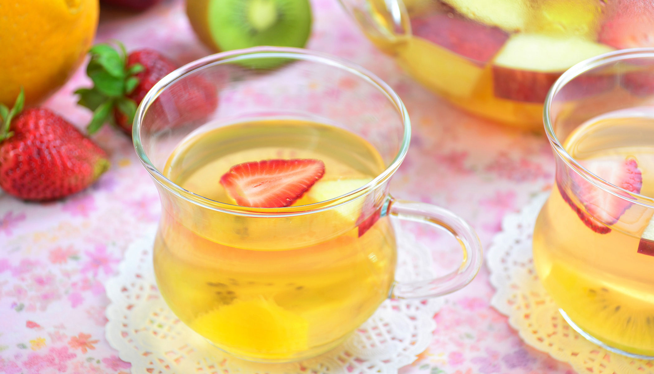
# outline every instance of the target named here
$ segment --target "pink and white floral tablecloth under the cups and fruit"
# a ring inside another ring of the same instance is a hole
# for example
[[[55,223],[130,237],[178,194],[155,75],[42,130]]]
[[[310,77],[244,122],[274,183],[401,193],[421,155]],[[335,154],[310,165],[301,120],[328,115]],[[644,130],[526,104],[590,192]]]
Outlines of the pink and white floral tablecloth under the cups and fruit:
[[[308,48],[368,67],[409,110],[413,139],[392,181],[394,196],[453,210],[488,246],[504,214],[549,188],[553,158],[542,134],[476,119],[424,90],[364,38],[337,0],[315,0],[313,10]],[[129,49],[156,48],[181,64],[209,53],[194,36],[182,1],[163,1],[141,14],[103,9],[97,41],[109,39]],[[72,92],[85,84],[82,67],[45,105],[84,126],[90,113],[75,105]],[[158,195],[131,140],[108,126],[95,140],[111,155],[112,168],[87,191],[48,204],[0,195],[0,373],[130,372],[105,340],[103,284],[128,244],[156,222]],[[443,267],[456,265],[456,255],[447,254],[452,240],[412,229],[443,244]],[[521,342],[490,307],[488,279],[482,268],[470,286],[447,297],[434,317],[430,348],[400,373],[572,372]]]

